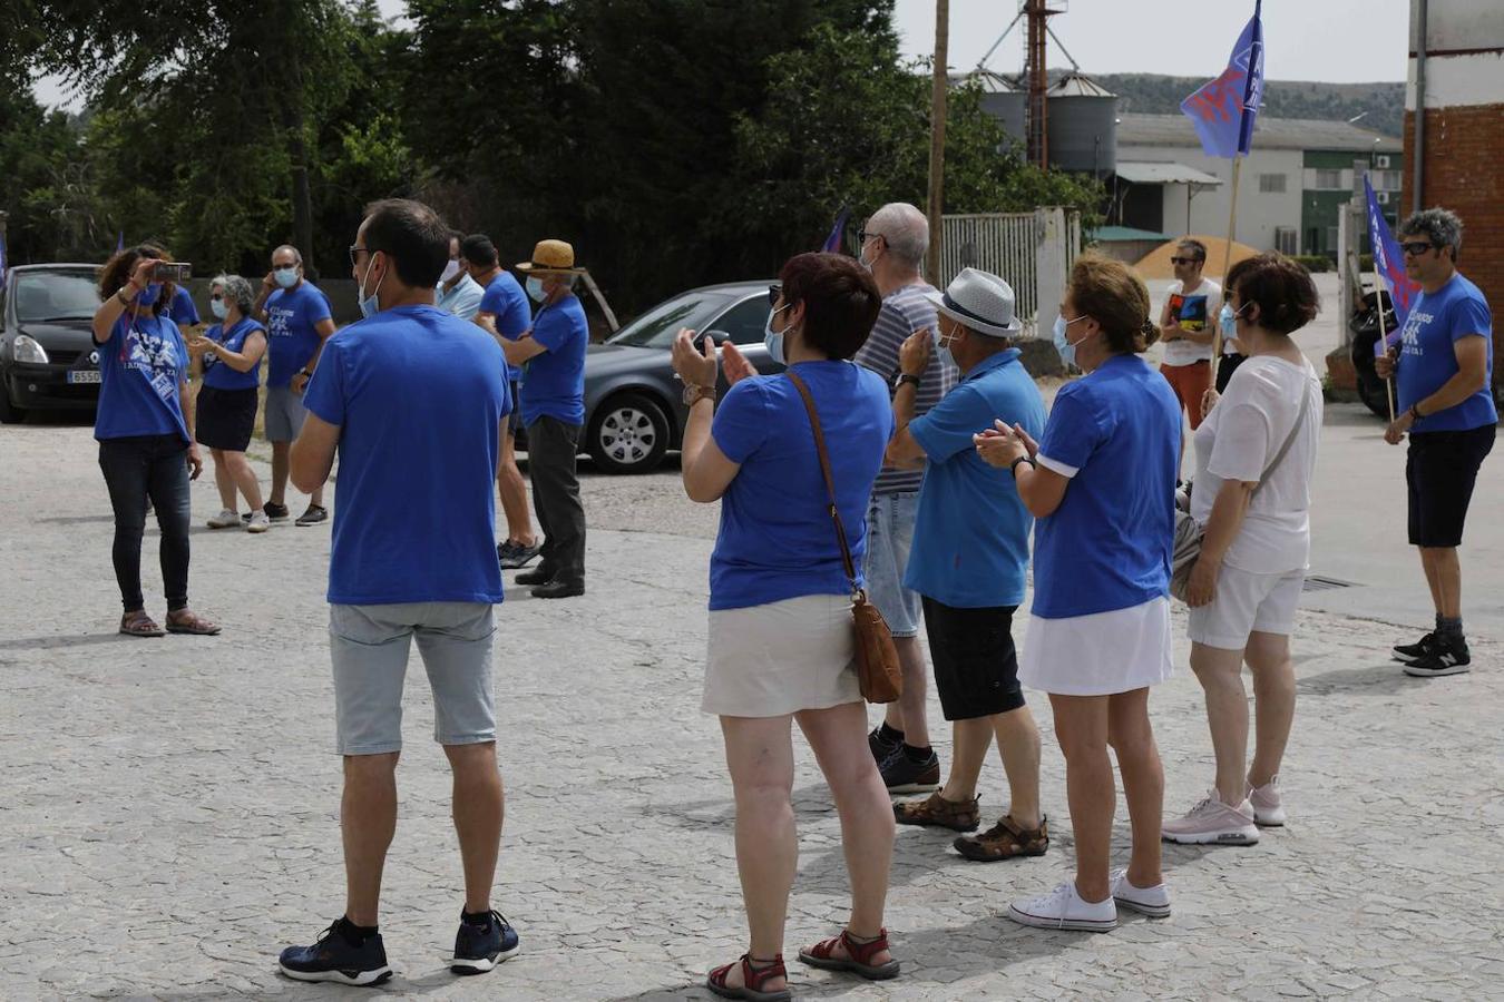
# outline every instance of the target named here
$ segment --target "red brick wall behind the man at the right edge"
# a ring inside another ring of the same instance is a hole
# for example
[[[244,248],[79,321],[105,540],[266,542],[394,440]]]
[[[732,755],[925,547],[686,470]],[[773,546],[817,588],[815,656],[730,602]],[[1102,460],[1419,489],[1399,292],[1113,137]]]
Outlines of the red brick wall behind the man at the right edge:
[[[1414,198],[1415,113],[1405,113],[1405,189]],[[1493,383],[1504,385],[1504,104],[1429,108],[1421,204],[1462,216],[1457,267],[1477,282],[1493,311]]]

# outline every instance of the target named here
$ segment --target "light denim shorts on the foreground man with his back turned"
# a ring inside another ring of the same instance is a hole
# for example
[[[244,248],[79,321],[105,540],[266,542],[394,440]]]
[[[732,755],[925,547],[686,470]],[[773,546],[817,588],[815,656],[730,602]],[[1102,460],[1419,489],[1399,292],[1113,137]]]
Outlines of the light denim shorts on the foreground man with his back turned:
[[[433,739],[441,745],[495,741],[495,632],[492,605],[483,602],[331,605],[338,753],[402,750],[402,687],[414,638],[433,690]]]

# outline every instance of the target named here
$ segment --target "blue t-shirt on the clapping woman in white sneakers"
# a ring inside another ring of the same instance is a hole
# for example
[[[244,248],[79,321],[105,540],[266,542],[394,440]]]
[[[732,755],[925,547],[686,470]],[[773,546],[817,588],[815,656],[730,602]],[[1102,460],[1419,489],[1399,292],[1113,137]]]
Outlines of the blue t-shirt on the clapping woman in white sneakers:
[[[1033,614],[1133,608],[1169,593],[1181,404],[1137,355],[1114,355],[1060,388],[1039,464],[1068,476],[1035,526]]]

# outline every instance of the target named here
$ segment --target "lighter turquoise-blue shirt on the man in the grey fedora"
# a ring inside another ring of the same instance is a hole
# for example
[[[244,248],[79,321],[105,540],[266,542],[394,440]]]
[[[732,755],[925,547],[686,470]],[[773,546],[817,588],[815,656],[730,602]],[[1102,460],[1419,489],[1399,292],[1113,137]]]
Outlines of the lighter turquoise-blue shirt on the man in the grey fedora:
[[[972,440],[999,418],[1036,439],[1044,430],[1044,401],[1018,355],[985,359],[908,424],[929,463],[904,586],[955,608],[1024,601],[1033,517],[1012,473],[984,463]]]

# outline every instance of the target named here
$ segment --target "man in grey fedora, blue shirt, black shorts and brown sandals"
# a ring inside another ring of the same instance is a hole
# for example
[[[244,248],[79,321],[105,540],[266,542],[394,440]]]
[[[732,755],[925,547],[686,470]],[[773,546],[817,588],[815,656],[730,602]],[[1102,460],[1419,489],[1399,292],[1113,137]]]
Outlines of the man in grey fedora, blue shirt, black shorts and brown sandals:
[[[920,330],[899,352],[904,379],[893,395],[898,431],[887,448],[895,466],[926,461],[904,584],[923,596],[925,632],[940,708],[952,724],[951,771],[923,801],[896,804],[901,825],[972,831],[981,823],[976,786],[997,739],[1008,774],[1009,810],[981,835],[955,840],[967,859],[991,862],[1042,855],[1050,831],[1039,813],[1039,729],[1024,705],[1014,649],[1014,611],[1024,598],[1029,515],[1008,470],[990,467],[972,436],[997,419],[1030,434],[1044,430],[1044,401],[1009,338],[1023,329],[1014,290],[996,275],[964,269],[931,293],[938,332]],[[961,382],[914,418],[917,382],[931,341]]]

